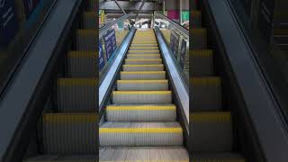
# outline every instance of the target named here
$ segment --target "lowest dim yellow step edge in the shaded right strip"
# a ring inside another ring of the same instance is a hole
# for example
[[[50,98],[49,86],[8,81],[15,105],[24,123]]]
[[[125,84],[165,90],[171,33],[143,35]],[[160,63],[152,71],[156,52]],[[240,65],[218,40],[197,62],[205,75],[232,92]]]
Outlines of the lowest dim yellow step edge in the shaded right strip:
[[[193,122],[230,122],[230,112],[193,112],[189,115]]]

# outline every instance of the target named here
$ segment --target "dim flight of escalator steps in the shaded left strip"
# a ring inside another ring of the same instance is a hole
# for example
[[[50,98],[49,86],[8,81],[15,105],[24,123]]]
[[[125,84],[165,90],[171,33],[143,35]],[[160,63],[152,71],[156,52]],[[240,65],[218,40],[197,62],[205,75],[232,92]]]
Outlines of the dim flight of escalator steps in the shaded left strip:
[[[80,18],[81,29],[75,33],[75,49],[64,57],[64,75],[56,81],[57,101],[44,109],[37,130],[39,150],[27,153],[27,162],[97,161],[97,132],[95,98],[96,74],[96,14],[94,1]],[[69,49],[70,46],[67,45]],[[27,151],[28,152],[28,151]]]

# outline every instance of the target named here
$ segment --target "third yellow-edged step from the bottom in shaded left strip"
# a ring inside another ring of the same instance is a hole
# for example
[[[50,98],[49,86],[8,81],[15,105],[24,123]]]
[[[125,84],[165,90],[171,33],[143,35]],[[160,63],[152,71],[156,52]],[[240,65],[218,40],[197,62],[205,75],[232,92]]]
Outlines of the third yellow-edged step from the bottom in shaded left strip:
[[[97,66],[96,51],[69,51],[68,60],[68,76],[71,77],[95,77]]]

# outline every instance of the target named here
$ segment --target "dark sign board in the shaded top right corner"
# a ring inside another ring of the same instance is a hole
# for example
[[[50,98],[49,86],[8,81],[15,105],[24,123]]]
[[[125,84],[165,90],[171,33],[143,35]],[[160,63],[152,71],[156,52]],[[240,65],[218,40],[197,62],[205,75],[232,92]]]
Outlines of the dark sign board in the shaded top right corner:
[[[268,43],[273,29],[274,8],[274,0],[261,0],[259,3],[258,28]]]

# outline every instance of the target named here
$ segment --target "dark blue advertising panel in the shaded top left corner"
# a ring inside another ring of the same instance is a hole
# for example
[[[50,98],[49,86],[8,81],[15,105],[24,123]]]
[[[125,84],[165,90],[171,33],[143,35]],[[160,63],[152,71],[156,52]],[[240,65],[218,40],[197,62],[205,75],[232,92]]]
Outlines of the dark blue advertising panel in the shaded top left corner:
[[[18,20],[12,0],[0,0],[0,44],[6,46],[18,31]]]

